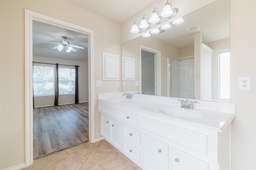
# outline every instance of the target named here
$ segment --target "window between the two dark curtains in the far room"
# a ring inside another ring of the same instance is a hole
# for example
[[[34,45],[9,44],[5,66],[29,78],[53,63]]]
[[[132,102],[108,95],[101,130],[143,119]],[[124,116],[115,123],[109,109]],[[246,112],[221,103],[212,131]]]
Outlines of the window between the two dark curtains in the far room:
[[[59,66],[59,94],[75,94],[75,69]]]

